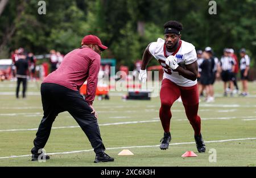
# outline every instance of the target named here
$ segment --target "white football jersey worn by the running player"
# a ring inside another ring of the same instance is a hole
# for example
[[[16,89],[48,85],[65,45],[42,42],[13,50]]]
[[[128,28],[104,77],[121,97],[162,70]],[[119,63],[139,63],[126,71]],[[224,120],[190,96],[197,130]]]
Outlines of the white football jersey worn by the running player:
[[[193,86],[197,84],[197,80],[189,80],[181,76],[178,72],[174,72],[170,67],[167,67],[166,65],[166,59],[170,55],[175,56],[177,63],[181,66],[195,62],[197,60],[197,56],[196,49],[193,44],[180,40],[177,50],[173,53],[169,53],[166,51],[166,43],[164,40],[158,38],[157,42],[150,44],[149,51],[151,55],[159,61],[160,65],[162,65],[164,70],[163,78],[167,78],[179,86]]]

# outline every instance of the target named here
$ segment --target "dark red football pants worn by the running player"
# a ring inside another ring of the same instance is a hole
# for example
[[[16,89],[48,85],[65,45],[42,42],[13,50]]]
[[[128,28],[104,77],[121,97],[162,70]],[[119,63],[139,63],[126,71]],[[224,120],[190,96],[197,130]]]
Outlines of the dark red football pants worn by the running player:
[[[199,93],[197,85],[178,86],[174,82],[164,78],[160,90],[161,107],[159,117],[162,122],[164,132],[170,132],[170,121],[172,117],[171,106],[181,96],[185,113],[191,123],[195,135],[200,135],[201,118],[197,115],[199,108]]]

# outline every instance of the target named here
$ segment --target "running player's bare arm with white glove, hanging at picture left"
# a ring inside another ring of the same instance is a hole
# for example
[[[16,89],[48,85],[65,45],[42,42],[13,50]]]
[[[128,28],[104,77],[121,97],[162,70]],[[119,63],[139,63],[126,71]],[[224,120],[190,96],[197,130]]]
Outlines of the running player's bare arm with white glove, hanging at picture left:
[[[150,43],[151,44],[151,43]],[[142,66],[141,69],[139,70],[139,80],[142,82],[146,82],[147,80],[147,64],[150,62],[152,55],[149,51],[149,46],[150,44],[147,45],[147,48],[145,49],[142,57]]]

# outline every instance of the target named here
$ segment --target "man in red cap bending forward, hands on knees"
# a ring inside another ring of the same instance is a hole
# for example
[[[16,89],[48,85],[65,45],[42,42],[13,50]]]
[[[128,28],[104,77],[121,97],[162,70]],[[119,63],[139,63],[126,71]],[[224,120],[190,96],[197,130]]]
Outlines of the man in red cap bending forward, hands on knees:
[[[47,143],[52,123],[63,111],[68,111],[76,119],[88,137],[96,153],[94,163],[114,161],[114,158],[104,152],[97,113],[92,106],[100,70],[100,55],[107,48],[97,36],[85,36],[81,48],[69,52],[60,67],[44,79],[41,85],[44,116],[31,150],[32,161],[38,160],[39,155],[44,154],[41,150]],[[85,80],[87,96],[84,99],[79,89]],[[49,156],[44,155],[44,158],[49,159]]]

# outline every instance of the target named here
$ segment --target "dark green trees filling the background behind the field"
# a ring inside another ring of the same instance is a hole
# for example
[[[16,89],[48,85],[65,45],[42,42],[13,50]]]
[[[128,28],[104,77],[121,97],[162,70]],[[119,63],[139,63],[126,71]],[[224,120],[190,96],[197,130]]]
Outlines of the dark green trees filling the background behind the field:
[[[132,67],[148,43],[163,38],[163,24],[177,20],[184,26],[181,39],[196,49],[210,46],[220,57],[224,48],[236,53],[246,48],[255,64],[254,0],[217,0],[212,15],[207,0],[46,0],[46,15],[38,14],[38,2],[6,3],[0,14],[1,58],[19,47],[35,54],[68,53],[80,47],[83,36],[94,34],[109,47],[103,58]]]

